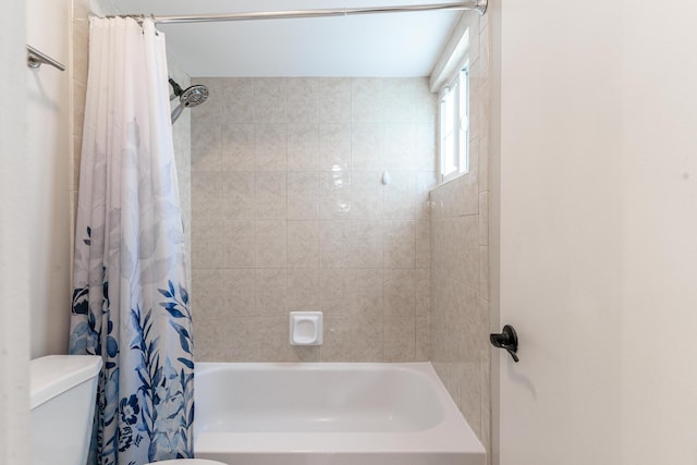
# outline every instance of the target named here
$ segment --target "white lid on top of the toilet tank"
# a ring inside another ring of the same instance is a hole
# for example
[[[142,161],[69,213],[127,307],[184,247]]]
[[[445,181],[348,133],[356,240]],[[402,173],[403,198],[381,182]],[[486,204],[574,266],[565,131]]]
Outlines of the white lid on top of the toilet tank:
[[[101,368],[98,355],[48,355],[35,358],[30,366],[30,406],[46,401],[95,377]]]

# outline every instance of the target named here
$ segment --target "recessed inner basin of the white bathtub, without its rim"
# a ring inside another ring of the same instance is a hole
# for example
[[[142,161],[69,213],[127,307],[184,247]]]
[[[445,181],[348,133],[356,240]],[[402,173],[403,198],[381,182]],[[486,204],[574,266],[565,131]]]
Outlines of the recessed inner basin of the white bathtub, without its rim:
[[[360,364],[210,368],[197,378],[198,432],[418,431],[443,418],[429,380],[415,370]]]

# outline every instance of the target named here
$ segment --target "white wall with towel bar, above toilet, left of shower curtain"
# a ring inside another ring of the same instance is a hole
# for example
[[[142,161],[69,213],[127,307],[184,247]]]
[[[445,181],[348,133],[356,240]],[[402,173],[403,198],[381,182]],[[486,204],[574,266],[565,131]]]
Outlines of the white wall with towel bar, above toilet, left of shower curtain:
[[[68,65],[27,70],[32,358],[68,352],[71,306],[70,0],[27,0],[26,42]]]

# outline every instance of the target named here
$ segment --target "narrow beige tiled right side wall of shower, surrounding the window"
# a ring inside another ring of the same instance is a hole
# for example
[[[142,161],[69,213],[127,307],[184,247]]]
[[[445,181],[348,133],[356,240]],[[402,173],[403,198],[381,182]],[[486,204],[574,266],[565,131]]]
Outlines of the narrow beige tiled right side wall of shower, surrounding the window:
[[[431,362],[490,452],[487,16],[465,14],[461,27],[469,34],[470,162],[468,174],[431,192]]]

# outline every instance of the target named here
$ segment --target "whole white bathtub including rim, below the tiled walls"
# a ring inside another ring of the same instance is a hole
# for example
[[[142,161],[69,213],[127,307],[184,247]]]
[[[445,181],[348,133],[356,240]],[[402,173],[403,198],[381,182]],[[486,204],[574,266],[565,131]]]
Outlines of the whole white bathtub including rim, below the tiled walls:
[[[428,363],[196,364],[197,457],[231,465],[484,465]]]

